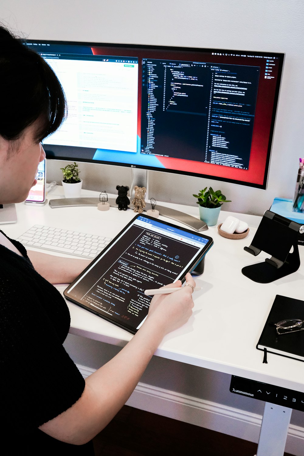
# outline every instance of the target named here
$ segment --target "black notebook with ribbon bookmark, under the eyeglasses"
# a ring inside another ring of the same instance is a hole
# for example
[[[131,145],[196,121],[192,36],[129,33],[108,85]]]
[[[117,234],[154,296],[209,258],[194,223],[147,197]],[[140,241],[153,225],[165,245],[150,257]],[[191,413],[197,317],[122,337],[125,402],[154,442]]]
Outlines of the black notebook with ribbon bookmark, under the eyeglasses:
[[[304,361],[304,331],[278,335],[276,327],[269,324],[292,318],[304,320],[304,301],[276,295],[258,341],[258,350],[266,348],[269,353]]]

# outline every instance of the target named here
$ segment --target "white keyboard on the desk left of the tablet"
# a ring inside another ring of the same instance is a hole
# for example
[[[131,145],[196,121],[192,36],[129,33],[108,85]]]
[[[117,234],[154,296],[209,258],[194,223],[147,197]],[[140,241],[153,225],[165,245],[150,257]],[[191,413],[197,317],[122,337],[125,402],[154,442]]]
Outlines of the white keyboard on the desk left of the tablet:
[[[82,258],[95,258],[112,239],[79,231],[34,225],[16,240],[25,247],[37,247]]]

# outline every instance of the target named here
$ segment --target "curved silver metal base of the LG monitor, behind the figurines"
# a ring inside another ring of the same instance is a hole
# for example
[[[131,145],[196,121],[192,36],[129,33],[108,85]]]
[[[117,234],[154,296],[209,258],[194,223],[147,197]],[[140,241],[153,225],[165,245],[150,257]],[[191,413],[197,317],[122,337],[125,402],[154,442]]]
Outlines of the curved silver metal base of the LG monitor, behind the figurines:
[[[97,206],[99,202],[99,198],[62,198],[50,200],[49,205],[52,207],[52,209],[55,209],[57,207]],[[108,198],[108,203],[111,207],[118,207],[115,198]],[[148,209],[152,209],[152,206],[150,203],[147,202],[145,211],[147,211]],[[163,217],[168,217],[173,220],[176,220],[177,222],[184,223],[184,225],[187,225],[188,227],[196,231],[205,231],[208,229],[208,226],[205,222],[203,222],[199,218],[185,214],[184,212],[176,211],[175,209],[171,209],[170,207],[160,206],[159,204],[157,205],[157,210]]]

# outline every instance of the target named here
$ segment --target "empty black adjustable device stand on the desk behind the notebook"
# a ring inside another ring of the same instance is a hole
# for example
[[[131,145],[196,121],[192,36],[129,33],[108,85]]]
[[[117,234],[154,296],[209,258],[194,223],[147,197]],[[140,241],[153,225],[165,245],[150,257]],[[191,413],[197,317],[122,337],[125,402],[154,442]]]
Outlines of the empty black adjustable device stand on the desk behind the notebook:
[[[254,282],[267,284],[297,271],[300,266],[298,236],[303,230],[300,223],[266,211],[252,244],[244,250],[254,256],[263,250],[272,257],[262,263],[245,266],[242,274]]]

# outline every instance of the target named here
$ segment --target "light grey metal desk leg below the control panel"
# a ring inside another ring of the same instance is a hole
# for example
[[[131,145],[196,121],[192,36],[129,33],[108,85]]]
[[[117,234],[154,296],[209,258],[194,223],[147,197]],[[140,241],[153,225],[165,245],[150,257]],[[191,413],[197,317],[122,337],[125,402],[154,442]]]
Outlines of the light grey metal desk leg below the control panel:
[[[292,409],[265,403],[257,456],[283,456]]]

